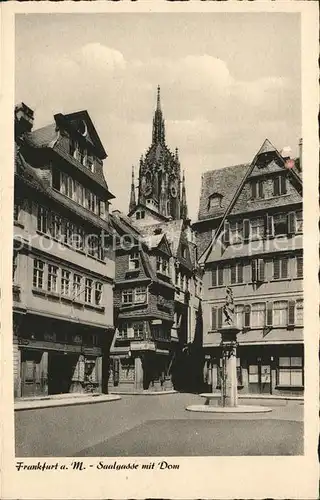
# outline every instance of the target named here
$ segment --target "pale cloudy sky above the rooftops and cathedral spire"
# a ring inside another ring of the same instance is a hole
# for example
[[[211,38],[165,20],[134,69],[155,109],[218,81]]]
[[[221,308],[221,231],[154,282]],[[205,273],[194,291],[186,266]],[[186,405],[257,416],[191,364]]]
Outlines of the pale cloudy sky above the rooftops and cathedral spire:
[[[128,211],[157,85],[192,220],[202,172],[249,163],[265,138],[298,155],[299,14],[20,14],[15,50],[15,101],[34,110],[34,128],[89,112],[108,153],[111,209]]]

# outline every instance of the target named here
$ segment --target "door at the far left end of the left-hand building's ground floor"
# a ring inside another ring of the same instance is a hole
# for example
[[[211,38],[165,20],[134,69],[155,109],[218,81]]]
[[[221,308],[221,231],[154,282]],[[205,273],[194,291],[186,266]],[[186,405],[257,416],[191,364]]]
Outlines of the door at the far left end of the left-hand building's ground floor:
[[[42,352],[23,349],[21,351],[21,396],[42,394],[40,363]]]

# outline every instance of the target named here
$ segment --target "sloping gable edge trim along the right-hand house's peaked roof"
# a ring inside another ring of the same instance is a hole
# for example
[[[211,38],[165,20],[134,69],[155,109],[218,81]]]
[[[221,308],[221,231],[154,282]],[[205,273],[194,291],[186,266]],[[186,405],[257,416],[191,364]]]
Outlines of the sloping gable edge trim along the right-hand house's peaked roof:
[[[211,242],[209,243],[208,247],[206,248],[206,250],[202,253],[202,255],[199,258],[200,264],[205,264],[205,262],[207,261],[207,258],[210,255],[211,249],[214,246],[214,244],[216,243],[216,241],[217,241],[217,239],[218,239],[218,237],[219,237],[219,235],[224,227],[224,221],[226,220],[226,218],[230,214],[231,210],[233,209],[233,207],[234,207],[245,183],[247,182],[248,178],[251,176],[252,172],[254,171],[256,166],[259,164],[261,159],[266,158],[266,156],[269,158],[270,154],[272,155],[272,157],[274,157],[277,160],[277,164],[279,161],[279,165],[282,166],[282,171],[286,170],[288,173],[288,176],[291,177],[294,182],[298,183],[299,187],[301,188],[301,192],[302,192],[302,181],[301,181],[300,176],[296,173],[296,171],[293,168],[291,168],[291,169],[286,168],[285,160],[282,158],[280,153],[277,151],[277,149],[271,144],[271,142],[268,139],[265,139],[265,141],[262,144],[261,148],[259,149],[258,153],[255,155],[250,167],[247,169],[244,177],[242,178],[242,180],[240,180],[239,185],[233,186],[233,189],[232,189],[232,192],[234,193],[233,197],[230,200],[229,205],[225,209],[223,217],[221,218],[220,224],[219,224],[217,231],[215,232]],[[273,200],[272,200],[272,204],[274,205]]]

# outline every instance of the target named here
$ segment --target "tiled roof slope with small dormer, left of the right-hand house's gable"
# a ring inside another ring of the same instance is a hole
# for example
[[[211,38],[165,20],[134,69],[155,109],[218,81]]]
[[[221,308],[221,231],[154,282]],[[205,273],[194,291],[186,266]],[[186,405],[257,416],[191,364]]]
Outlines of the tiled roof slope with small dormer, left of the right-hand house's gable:
[[[249,168],[250,165],[245,163],[202,174],[199,220],[221,217],[224,214]],[[209,208],[209,197],[212,194],[222,196],[220,206]]]

